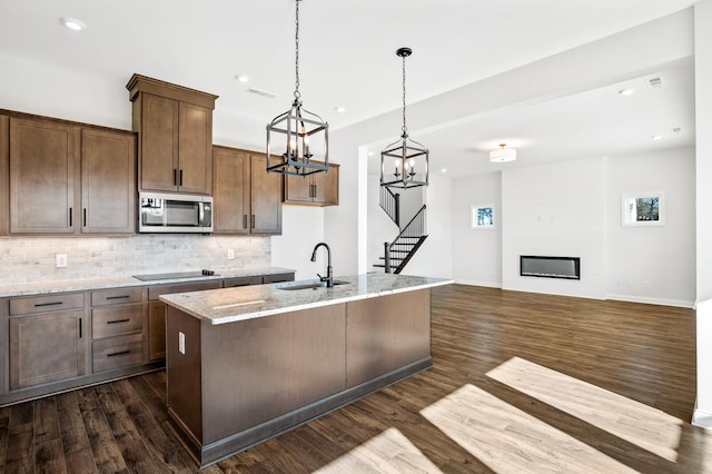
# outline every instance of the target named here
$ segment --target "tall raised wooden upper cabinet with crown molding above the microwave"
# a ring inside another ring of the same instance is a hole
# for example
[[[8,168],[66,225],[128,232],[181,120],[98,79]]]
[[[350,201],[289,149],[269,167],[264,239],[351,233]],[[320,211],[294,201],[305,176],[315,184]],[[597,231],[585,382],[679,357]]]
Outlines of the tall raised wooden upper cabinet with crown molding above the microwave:
[[[139,75],[126,87],[139,132],[139,189],[210,195],[217,96]]]

